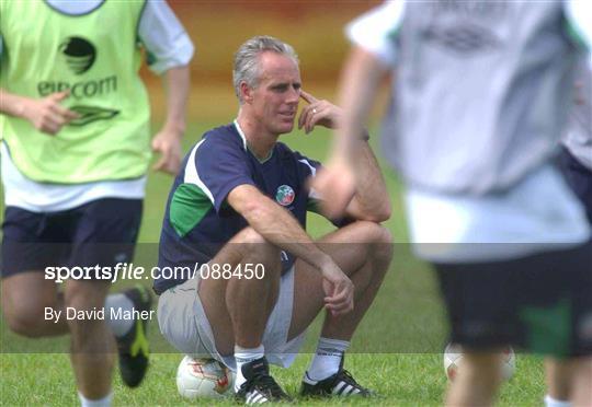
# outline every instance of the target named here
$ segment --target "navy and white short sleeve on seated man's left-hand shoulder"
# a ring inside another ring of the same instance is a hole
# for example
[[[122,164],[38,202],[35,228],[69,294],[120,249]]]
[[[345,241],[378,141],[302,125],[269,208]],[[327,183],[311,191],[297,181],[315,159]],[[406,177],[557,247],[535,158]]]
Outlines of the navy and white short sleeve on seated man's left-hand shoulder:
[[[218,213],[232,189],[255,185],[241,144],[224,140],[231,137],[231,133],[206,136],[192,151],[185,167],[184,182],[200,187]]]

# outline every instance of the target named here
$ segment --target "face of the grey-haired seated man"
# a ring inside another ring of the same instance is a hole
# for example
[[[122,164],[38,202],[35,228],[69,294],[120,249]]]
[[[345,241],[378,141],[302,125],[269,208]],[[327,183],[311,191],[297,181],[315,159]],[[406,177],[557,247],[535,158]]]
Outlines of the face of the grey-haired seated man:
[[[260,78],[252,89],[253,118],[270,133],[291,132],[300,98],[300,72],[289,57],[271,51],[259,57]]]

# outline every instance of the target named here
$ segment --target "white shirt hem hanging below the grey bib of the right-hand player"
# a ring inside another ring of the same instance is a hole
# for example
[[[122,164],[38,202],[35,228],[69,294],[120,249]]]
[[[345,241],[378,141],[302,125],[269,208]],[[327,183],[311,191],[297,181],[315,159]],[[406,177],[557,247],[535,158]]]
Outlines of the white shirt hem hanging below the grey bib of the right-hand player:
[[[415,254],[435,263],[511,260],[590,239],[583,206],[550,164],[503,194],[473,197],[410,187],[406,205]]]

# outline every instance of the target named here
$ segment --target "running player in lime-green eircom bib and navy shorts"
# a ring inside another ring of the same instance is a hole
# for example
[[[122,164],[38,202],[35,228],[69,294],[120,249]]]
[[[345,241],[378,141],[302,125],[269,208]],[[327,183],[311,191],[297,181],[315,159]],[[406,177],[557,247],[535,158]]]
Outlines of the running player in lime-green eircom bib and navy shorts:
[[[107,406],[113,335],[125,384],[148,367],[147,322],[109,310],[148,310],[149,292],[107,296],[109,281],[83,279],[58,292],[43,270],[130,261],[150,160],[140,48],[168,89],[156,170],[177,174],[193,45],[166,2],[105,0],[2,1],[0,43],[2,312],[24,336],[69,333],[82,405]],[[66,318],[65,307],[103,306],[110,321]]]

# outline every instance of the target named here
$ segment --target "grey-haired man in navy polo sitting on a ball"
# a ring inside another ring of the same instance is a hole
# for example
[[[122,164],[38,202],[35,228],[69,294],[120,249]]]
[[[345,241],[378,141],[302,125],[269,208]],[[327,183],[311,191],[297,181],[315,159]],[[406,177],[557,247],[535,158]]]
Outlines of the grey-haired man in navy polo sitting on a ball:
[[[293,130],[300,97],[308,105],[298,126],[307,133],[335,128],[341,109],[301,90],[294,49],[272,37],[239,48],[234,84],[237,119],[205,133],[169,195],[159,266],[187,270],[155,281],[160,329],[182,352],[236,370],[244,403],[282,400],[287,395],[267,360],[288,367],[325,307],[301,394],[367,396],[343,369],[343,353],[380,287],[391,245],[379,225],[389,217],[388,196],[366,132],[355,142],[364,182],[350,197],[352,221],[315,242],[306,213],[319,197],[307,182],[320,163],[277,139]],[[196,265],[205,266],[190,276]]]

